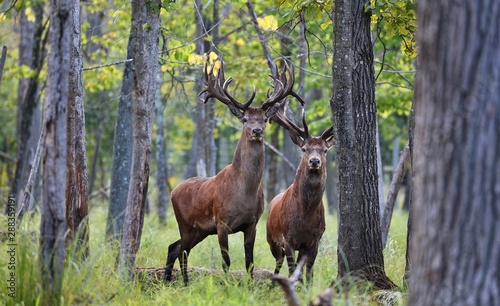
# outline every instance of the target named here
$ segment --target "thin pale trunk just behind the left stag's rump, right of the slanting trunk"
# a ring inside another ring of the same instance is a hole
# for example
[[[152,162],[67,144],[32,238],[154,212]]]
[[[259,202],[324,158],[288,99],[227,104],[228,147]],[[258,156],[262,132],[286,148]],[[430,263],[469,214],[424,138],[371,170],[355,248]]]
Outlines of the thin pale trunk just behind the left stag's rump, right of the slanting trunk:
[[[156,186],[158,187],[158,217],[160,224],[167,224],[167,155],[165,152],[165,133],[163,126],[163,103],[161,101],[161,74],[157,76],[155,99],[156,117]]]

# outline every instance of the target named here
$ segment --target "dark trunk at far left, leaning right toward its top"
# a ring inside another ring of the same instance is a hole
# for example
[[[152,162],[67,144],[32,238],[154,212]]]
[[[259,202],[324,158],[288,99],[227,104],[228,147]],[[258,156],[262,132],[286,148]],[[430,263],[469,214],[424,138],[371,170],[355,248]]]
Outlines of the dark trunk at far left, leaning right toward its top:
[[[34,4],[35,21],[28,21],[28,17],[21,12],[21,42],[19,44],[19,65],[26,65],[34,70],[35,75],[30,79],[20,79],[17,96],[17,163],[14,179],[12,180],[11,194],[21,198],[29,173],[33,167],[38,136],[40,135],[41,111],[39,107],[38,76],[45,58],[45,43],[43,39],[43,4]],[[16,201],[19,202],[19,201]]]

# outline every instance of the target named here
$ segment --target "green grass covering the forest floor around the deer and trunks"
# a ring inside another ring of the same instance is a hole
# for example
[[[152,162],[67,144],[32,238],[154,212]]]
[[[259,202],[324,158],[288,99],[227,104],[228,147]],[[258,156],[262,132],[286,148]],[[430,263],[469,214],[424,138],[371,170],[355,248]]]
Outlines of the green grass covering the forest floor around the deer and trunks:
[[[104,243],[107,210],[95,206],[90,211],[91,256],[83,265],[71,259],[66,262],[63,284],[63,305],[284,305],[286,300],[282,289],[270,280],[249,280],[217,274],[190,274],[190,285],[181,281],[164,285],[159,281],[139,278],[125,282],[116,273],[114,263],[116,252]],[[171,210],[169,210],[171,213]],[[274,258],[265,240],[265,218],[259,222],[255,244],[255,267],[274,269]],[[4,222],[0,217],[0,224]],[[38,228],[39,219],[27,216],[16,236],[16,297],[9,297],[7,286],[10,277],[7,254],[8,246],[2,243],[0,266],[0,305],[36,305],[41,294],[39,277]],[[385,267],[388,276],[400,287],[405,267],[407,215],[395,211],[391,232],[386,247]],[[2,226],[4,227],[4,226]],[[6,231],[2,228],[0,231]],[[147,216],[136,266],[163,268],[168,245],[179,238],[173,215],[168,216],[167,225],[160,226],[156,217]],[[298,297],[302,305],[323,292],[337,275],[337,221],[336,216],[327,217],[327,229],[323,236],[315,264],[314,283],[310,288],[299,286]],[[230,236],[230,270],[244,270],[243,235]],[[221,271],[221,256],[216,236],[211,236],[196,246],[189,257],[190,267],[204,267]],[[176,263],[178,267],[178,263]],[[287,273],[286,264],[281,273]],[[335,296],[336,305],[373,305],[372,296],[363,289],[354,289],[342,296]],[[397,304],[404,304],[405,293],[397,295]]]

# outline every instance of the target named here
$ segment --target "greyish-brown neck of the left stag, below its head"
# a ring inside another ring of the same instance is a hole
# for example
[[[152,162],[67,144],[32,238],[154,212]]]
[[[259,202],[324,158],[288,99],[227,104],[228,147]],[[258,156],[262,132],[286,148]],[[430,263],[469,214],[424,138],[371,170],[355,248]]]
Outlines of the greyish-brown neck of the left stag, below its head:
[[[232,164],[235,173],[246,185],[258,188],[264,174],[264,141],[252,141],[243,133]]]

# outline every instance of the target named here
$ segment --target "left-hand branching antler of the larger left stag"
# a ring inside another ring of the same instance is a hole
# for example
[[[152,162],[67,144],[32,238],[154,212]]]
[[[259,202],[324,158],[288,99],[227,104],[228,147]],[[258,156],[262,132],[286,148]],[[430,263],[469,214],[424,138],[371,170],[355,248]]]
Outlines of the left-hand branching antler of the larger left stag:
[[[205,96],[205,103],[210,98],[216,98],[222,103],[226,104],[233,115],[241,118],[243,115],[242,112],[245,112],[250,104],[252,104],[253,99],[255,98],[255,85],[253,88],[252,96],[244,103],[238,102],[233,96],[231,96],[227,90],[229,84],[233,81],[232,78],[225,79],[224,77],[224,66],[222,60],[220,60],[220,69],[217,75],[214,75],[214,65],[211,67],[210,73],[208,73],[208,63],[205,64],[203,69],[203,74],[205,78],[205,83],[207,84],[207,88],[203,89],[198,96],[203,93],[207,93]]]

